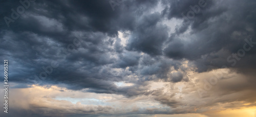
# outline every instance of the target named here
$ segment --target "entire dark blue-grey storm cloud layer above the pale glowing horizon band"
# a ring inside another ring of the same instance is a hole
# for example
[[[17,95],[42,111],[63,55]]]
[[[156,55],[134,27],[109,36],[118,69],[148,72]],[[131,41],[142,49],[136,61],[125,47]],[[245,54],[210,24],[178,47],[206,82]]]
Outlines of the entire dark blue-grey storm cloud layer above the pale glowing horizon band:
[[[204,2],[201,7],[199,1],[122,1],[113,11],[109,1],[36,1],[8,27],[3,17],[11,17],[11,9],[21,4],[4,1],[0,7],[0,56],[10,61],[13,82],[34,84],[35,75],[40,77],[44,67],[55,61],[58,67],[40,85],[65,84],[72,90],[129,98],[154,96],[161,104],[178,107],[184,104],[173,95],[148,91],[150,81],[188,82],[186,72],[192,64],[197,68],[194,72],[226,65],[246,74],[256,68],[255,1]],[[188,12],[194,16],[189,18]],[[170,27],[164,23],[173,19],[181,24],[172,22],[175,27]],[[250,50],[238,60],[232,54],[239,54],[244,44]],[[133,85],[115,84],[121,81]],[[254,82],[253,77],[248,81]],[[230,87],[235,91],[254,88],[244,84]]]

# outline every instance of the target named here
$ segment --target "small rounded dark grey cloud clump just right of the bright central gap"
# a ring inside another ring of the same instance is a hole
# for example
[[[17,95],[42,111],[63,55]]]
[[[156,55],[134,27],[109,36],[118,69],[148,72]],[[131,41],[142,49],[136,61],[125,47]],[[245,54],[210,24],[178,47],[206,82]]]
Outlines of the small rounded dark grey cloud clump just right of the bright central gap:
[[[150,14],[138,21],[138,27],[129,39],[128,50],[142,51],[150,55],[161,55],[162,44],[168,38],[168,29],[157,25],[160,13]]]

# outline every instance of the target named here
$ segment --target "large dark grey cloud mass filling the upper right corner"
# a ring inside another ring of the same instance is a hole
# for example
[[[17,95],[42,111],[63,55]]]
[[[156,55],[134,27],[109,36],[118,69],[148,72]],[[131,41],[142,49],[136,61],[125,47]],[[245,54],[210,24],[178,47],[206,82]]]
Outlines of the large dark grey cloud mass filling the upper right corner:
[[[193,11],[189,6],[198,5],[197,1],[172,1],[169,3],[170,8],[167,14],[168,18],[182,19],[183,25],[176,29],[176,33],[172,34],[172,40],[164,49],[165,55],[174,59],[186,58],[200,61],[198,63],[199,71],[206,71],[213,67],[219,68],[222,65],[230,66],[231,63],[227,61],[228,56],[243,49],[243,45],[246,43],[245,39],[252,38],[252,41],[255,42],[256,25],[255,21],[252,21],[255,16],[251,15],[255,11],[254,1],[243,3],[240,1],[205,2],[207,5],[203,8],[200,7],[199,13],[194,12],[195,16],[189,20],[182,17],[182,13],[186,15],[189,11]],[[243,8],[244,5],[247,7]],[[180,39],[180,34],[184,34],[188,27],[191,28],[190,36],[187,37],[189,43]],[[228,53],[222,54],[226,51]],[[246,63],[255,57],[254,53],[255,48],[251,48],[249,52],[246,52],[247,57],[239,62],[255,68],[251,65],[251,62],[255,63],[254,61]],[[207,58],[204,59],[202,56],[207,56]],[[217,57],[222,59],[215,59]],[[202,59],[203,65],[200,66]],[[241,67],[239,64],[235,67]]]

